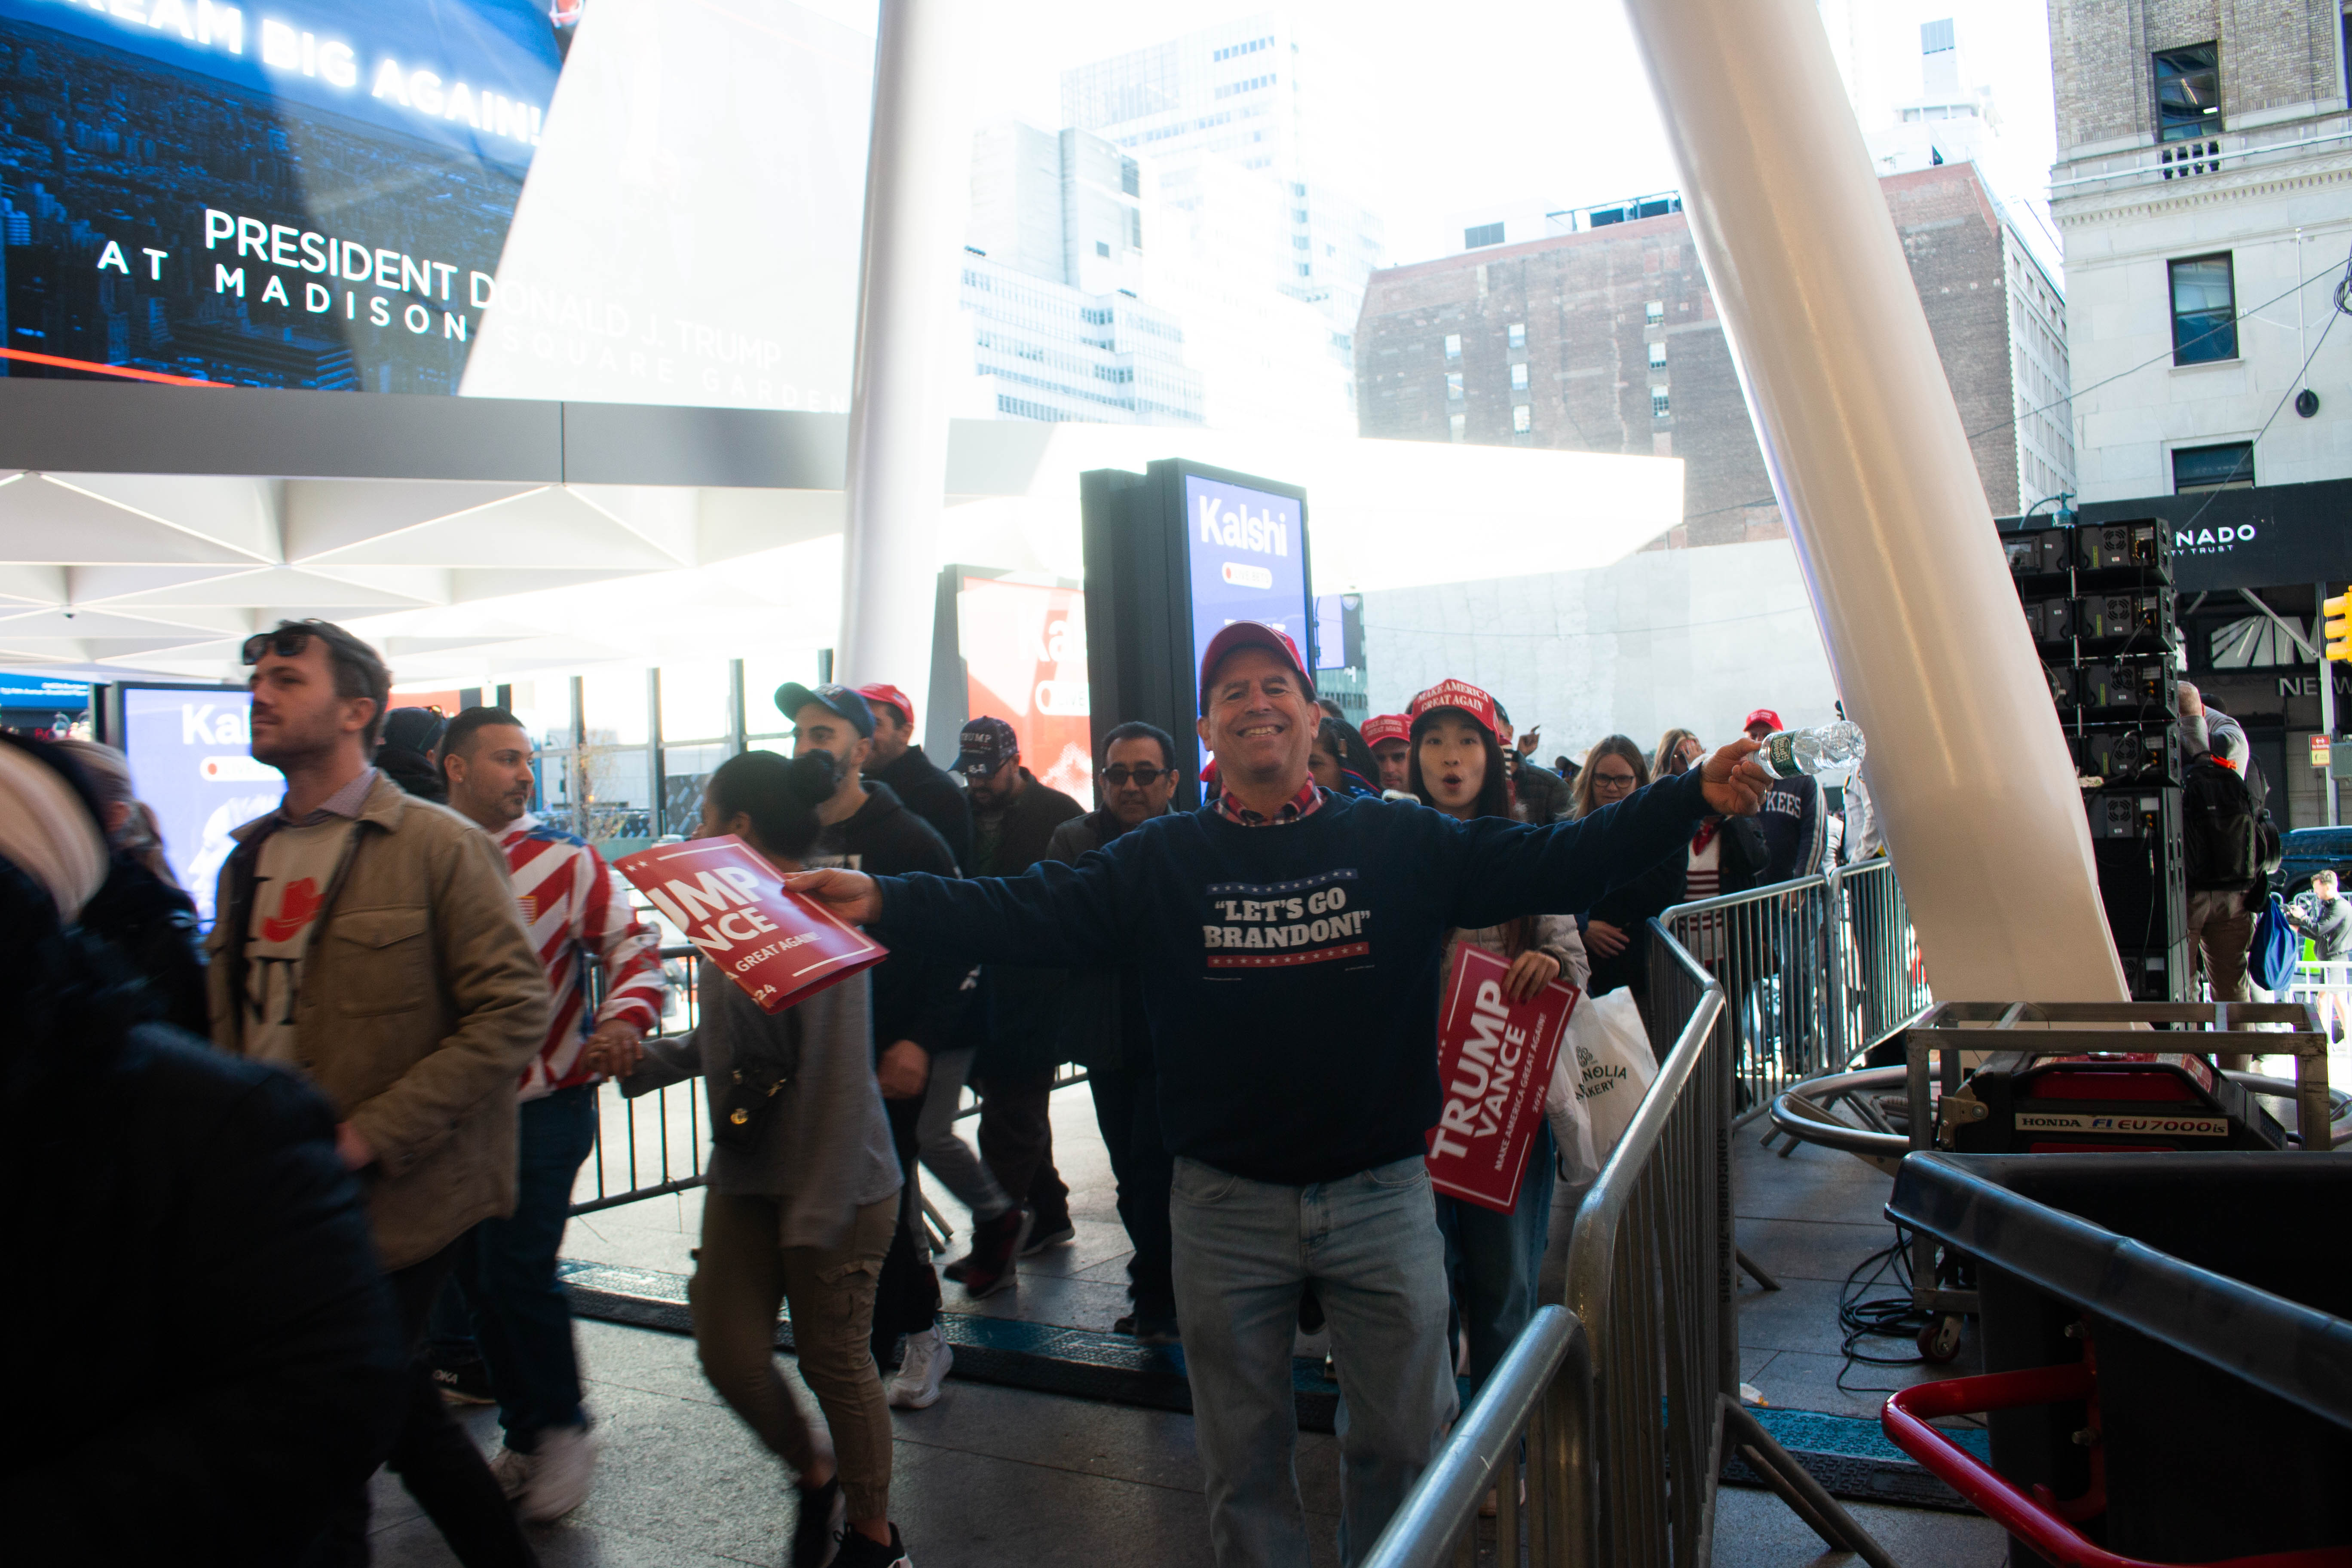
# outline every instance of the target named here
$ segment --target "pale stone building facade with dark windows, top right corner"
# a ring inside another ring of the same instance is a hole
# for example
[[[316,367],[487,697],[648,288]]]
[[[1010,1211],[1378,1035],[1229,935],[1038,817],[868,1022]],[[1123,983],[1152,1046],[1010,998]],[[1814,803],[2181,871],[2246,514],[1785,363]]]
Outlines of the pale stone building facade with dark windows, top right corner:
[[[2347,45],[2340,0],[2053,0],[2084,501],[2352,477]]]

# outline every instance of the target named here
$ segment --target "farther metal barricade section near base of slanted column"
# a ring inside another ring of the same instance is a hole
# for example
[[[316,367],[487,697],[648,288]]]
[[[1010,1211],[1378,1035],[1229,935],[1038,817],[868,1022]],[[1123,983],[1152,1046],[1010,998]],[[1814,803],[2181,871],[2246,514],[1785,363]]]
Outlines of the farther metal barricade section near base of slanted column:
[[[1903,884],[1884,858],[1682,903],[1658,919],[1724,987],[1740,1124],[1931,1001]]]

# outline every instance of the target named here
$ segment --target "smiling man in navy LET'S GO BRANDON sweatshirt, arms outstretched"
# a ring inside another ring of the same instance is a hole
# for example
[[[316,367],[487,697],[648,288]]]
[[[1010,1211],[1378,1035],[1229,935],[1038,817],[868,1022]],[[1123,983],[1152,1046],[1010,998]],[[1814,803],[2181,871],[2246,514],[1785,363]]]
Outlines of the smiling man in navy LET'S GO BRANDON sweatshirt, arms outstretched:
[[[1341,1563],[1371,1552],[1456,1413],[1444,1244],[1423,1166],[1437,1124],[1444,933],[1590,907],[1771,780],[1733,741],[1573,823],[1458,823],[1315,788],[1315,684],[1279,630],[1202,658],[1221,795],[1021,877],[793,889],[891,947],[1141,969],[1176,1154],[1176,1309],[1223,1568],[1308,1561],[1291,1331],[1315,1286],[1341,1401]]]

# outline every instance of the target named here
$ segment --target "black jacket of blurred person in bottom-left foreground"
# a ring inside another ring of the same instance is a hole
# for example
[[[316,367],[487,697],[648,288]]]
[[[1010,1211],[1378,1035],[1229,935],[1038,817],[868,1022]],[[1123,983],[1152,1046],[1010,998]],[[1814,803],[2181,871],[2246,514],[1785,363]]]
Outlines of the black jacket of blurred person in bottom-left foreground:
[[[12,1392],[40,1410],[0,1434],[14,1552],[294,1563],[407,1389],[334,1114],[292,1072],[24,969],[56,1004],[0,1041],[0,1255],[24,1286],[0,1333],[33,1347]]]

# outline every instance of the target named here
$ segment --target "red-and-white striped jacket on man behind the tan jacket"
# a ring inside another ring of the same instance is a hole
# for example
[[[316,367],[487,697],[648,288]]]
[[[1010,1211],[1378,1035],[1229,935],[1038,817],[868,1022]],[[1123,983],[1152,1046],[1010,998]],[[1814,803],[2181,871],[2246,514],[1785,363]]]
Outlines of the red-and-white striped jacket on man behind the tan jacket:
[[[628,886],[588,839],[520,816],[499,835],[555,1009],[548,1039],[522,1070],[520,1100],[586,1084],[581,1048],[597,1023],[626,1018],[647,1034],[661,1023],[661,938],[628,905]],[[588,966],[604,966],[604,1006],[588,1018]]]

